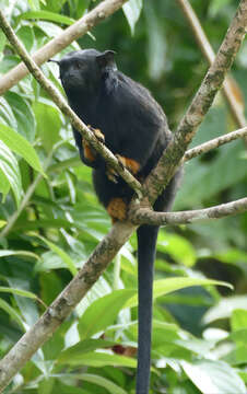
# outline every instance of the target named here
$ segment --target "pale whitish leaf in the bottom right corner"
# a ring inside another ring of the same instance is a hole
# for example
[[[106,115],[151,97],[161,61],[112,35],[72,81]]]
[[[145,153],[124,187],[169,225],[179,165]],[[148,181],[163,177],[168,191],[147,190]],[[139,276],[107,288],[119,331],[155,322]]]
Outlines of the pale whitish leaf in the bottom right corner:
[[[203,394],[246,394],[238,374],[226,362],[200,360],[193,363],[181,361],[186,374]]]

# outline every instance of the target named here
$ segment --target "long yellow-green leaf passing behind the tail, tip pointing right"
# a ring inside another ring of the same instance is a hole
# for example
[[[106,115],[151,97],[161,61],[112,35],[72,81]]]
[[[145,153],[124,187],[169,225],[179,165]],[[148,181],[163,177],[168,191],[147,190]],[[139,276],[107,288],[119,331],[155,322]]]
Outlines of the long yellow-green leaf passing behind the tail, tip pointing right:
[[[185,289],[187,287],[191,286],[226,286],[230,289],[232,289],[232,285],[227,282],[223,282],[220,280],[213,280],[213,279],[198,279],[198,278],[168,278],[168,279],[158,279],[154,280],[153,286],[153,298],[162,297],[169,294],[173,291]],[[127,308],[132,308],[138,305],[138,297],[132,297],[127,303]]]

